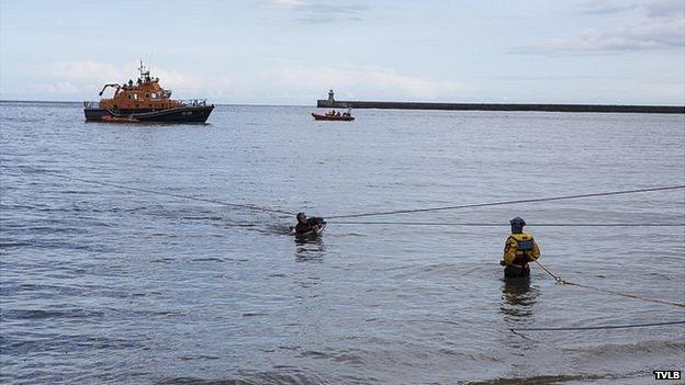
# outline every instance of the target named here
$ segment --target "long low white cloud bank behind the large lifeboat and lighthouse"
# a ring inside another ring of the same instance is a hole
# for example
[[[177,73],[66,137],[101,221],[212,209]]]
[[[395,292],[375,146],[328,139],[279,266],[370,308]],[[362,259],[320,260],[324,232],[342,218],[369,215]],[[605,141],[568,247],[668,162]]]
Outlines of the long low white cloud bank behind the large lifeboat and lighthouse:
[[[59,61],[32,70],[31,89],[49,97],[96,98],[104,83],[135,80],[133,64],[108,64],[96,60]],[[453,98],[464,88],[451,80],[409,76],[392,68],[373,66],[319,66],[313,63],[274,60],[261,69],[246,68],[240,73],[182,72],[151,68],[164,88],[181,99],[209,98],[229,103],[314,103],[329,88],[340,95],[395,100],[437,100]],[[49,99],[49,98],[48,98]]]

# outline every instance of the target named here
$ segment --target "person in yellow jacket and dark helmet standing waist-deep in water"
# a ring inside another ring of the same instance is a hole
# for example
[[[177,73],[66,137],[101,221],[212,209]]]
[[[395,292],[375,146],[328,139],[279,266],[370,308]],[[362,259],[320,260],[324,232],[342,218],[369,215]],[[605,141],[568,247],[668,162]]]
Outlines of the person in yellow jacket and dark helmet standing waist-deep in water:
[[[524,233],[526,220],[516,217],[509,220],[512,235],[504,245],[504,254],[499,264],[504,267],[504,276],[528,276],[530,267],[528,262],[540,258],[540,248],[532,235]]]

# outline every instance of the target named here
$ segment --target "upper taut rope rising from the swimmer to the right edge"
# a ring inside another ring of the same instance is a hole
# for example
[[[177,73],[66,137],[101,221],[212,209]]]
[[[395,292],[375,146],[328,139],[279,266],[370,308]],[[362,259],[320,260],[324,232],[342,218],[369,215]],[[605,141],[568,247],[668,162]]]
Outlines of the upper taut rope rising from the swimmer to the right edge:
[[[647,188],[647,189],[635,189],[635,190],[606,191],[606,192],[591,193],[591,194],[576,194],[576,195],[535,197],[535,199],[528,199],[528,200],[499,201],[499,202],[490,202],[490,203],[472,203],[472,204],[462,204],[462,205],[453,205],[453,206],[441,206],[441,207],[414,208],[414,210],[395,210],[395,211],[389,211],[389,212],[372,212],[372,213],[359,213],[359,214],[346,214],[346,215],[330,215],[330,216],[327,216],[327,218],[328,219],[359,218],[359,217],[381,216],[381,215],[396,215],[396,214],[411,214],[411,213],[429,213],[429,212],[439,212],[439,211],[448,211],[448,210],[460,210],[460,208],[472,208],[472,207],[490,207],[490,206],[504,206],[504,205],[513,205],[513,204],[520,204],[520,203],[535,203],[535,202],[577,200],[577,199],[584,199],[584,197],[622,195],[622,194],[637,194],[637,193],[645,193],[645,192],[653,192],[653,191],[666,191],[666,190],[678,190],[678,189],[685,189],[685,184],[661,186],[661,188]]]

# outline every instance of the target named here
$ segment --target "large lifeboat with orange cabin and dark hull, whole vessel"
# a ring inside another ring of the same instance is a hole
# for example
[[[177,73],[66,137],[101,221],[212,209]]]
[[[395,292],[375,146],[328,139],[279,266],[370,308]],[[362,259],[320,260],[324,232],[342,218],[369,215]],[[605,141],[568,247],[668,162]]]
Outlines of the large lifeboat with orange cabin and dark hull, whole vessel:
[[[112,99],[83,102],[86,121],[98,122],[177,122],[204,123],[214,110],[205,100],[173,100],[171,90],[159,86],[141,63],[141,77],[136,82],[104,84],[100,97],[109,87],[114,88]]]

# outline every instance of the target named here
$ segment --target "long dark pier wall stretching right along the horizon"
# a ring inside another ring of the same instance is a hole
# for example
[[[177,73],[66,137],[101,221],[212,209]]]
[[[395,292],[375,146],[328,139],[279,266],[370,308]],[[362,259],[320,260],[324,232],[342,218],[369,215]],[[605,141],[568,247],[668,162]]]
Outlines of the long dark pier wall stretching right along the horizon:
[[[683,105],[611,105],[611,104],[486,104],[486,103],[419,103],[316,101],[319,109],[393,109],[393,110],[461,110],[461,111],[547,111],[547,112],[610,112],[641,114],[685,114]]]

